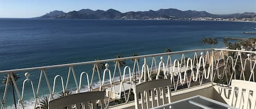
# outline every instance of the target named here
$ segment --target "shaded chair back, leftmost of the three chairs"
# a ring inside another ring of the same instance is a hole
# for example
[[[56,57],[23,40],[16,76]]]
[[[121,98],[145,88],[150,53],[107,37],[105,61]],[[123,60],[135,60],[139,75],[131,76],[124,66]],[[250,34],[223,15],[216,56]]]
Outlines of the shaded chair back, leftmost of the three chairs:
[[[101,105],[101,108],[104,108],[104,99],[104,91],[77,93],[57,98],[55,100],[51,100],[49,102],[49,109],[71,109],[73,106],[75,106],[77,109],[80,108],[80,106],[86,109],[96,109],[98,100],[100,101],[99,104]]]

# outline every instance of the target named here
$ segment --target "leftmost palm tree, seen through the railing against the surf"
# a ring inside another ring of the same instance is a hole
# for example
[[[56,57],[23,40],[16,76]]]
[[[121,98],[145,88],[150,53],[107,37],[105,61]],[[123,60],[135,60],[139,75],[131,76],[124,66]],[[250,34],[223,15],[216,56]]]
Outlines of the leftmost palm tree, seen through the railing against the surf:
[[[13,74],[13,73],[12,73],[12,75],[13,75],[13,77],[14,77],[14,81],[17,81],[17,80],[20,78],[20,76],[19,76],[18,74]],[[3,78],[3,81],[2,81],[3,84],[6,84],[7,79],[8,79],[8,75],[5,75],[4,78]],[[17,108],[17,106],[16,106],[15,94],[14,94],[14,84],[13,84],[13,82],[11,82],[11,77],[10,77],[10,76],[9,76],[9,83],[11,84],[11,87],[13,88],[14,106],[15,106],[15,108]]]

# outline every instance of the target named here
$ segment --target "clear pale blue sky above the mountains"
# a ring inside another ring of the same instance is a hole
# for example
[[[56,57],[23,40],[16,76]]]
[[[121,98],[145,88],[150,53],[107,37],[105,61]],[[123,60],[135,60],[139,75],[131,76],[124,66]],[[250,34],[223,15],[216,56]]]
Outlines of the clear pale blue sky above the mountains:
[[[121,12],[175,8],[233,14],[256,12],[256,0],[0,0],[0,18],[38,17],[52,10],[110,8]]]

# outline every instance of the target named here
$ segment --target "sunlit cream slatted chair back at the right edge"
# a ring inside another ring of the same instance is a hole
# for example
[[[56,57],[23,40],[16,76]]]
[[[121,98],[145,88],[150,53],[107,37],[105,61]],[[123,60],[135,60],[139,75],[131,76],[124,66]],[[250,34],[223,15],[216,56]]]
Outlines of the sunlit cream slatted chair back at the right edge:
[[[232,80],[231,87],[230,106],[243,109],[255,109],[256,82]]]

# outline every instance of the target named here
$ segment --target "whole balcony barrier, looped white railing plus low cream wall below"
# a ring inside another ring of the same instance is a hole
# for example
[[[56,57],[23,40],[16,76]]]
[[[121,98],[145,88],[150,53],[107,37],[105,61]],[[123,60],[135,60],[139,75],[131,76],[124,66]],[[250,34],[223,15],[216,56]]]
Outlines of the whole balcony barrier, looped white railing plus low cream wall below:
[[[256,52],[230,49],[194,49],[117,59],[2,70],[7,80],[1,92],[2,108],[43,108],[41,101],[58,93],[105,91],[105,108],[135,108],[135,85],[170,79],[171,101],[201,95],[228,104],[231,80],[254,82]],[[125,64],[124,64],[125,63]],[[19,74],[23,82],[16,82]],[[252,97],[249,97],[252,99]],[[28,103],[29,102],[29,103]],[[255,105],[255,104],[254,104]]]

